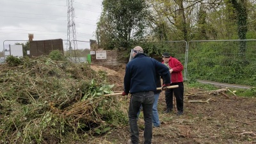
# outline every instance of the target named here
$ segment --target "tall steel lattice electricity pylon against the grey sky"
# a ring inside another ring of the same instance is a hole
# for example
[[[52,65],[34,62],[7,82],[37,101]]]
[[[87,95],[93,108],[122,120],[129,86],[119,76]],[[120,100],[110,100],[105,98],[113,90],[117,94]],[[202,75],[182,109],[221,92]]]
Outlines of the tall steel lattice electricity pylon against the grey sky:
[[[74,49],[74,55],[76,57],[76,50],[77,50],[77,41],[76,41],[76,24],[75,24],[75,11],[73,7],[74,0],[67,0],[68,5],[68,29],[67,29],[67,49],[69,50],[70,54],[72,49]]]

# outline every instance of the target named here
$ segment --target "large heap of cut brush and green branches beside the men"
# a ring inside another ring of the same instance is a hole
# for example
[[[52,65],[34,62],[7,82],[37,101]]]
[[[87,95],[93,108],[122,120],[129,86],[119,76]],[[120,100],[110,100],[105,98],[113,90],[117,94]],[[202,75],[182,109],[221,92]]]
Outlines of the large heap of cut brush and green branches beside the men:
[[[106,72],[70,63],[61,52],[10,57],[0,65],[0,143],[86,140],[127,124]]]

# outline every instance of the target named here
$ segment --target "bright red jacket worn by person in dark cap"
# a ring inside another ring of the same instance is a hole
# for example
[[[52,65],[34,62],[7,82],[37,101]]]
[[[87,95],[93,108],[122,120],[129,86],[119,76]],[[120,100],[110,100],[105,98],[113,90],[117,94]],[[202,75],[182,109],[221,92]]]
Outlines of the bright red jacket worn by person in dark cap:
[[[182,76],[183,65],[180,63],[180,61],[177,60],[177,58],[170,57],[168,64],[169,64],[169,68],[173,70],[171,74],[172,83],[183,82],[183,76]]]

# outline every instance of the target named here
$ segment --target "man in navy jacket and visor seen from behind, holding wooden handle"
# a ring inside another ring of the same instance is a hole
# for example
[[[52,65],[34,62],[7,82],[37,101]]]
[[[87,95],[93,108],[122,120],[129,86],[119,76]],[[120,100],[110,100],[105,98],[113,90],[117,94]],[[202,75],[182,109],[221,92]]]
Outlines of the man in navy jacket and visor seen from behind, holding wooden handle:
[[[163,76],[164,85],[170,86],[169,69],[157,60],[148,58],[140,46],[132,49],[133,59],[127,63],[124,76],[124,92],[122,95],[131,93],[129,104],[129,124],[131,129],[131,140],[128,143],[137,144],[139,142],[139,130],[137,125],[137,113],[140,106],[143,107],[145,121],[144,143],[152,141],[152,106],[154,103],[154,92],[156,91],[156,75]]]

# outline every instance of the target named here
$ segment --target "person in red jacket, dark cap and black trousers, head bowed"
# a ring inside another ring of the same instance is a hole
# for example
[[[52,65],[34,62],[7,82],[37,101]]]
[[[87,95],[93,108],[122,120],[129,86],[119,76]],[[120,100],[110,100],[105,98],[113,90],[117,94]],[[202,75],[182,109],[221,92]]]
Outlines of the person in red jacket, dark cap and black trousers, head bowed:
[[[183,65],[176,58],[172,58],[169,52],[163,52],[163,64],[166,65],[171,74],[171,84],[170,85],[179,85],[178,88],[170,88],[165,91],[165,102],[166,102],[166,111],[164,113],[170,113],[173,111],[173,93],[177,101],[177,115],[183,114],[183,95],[184,95],[184,86],[183,86],[183,76],[182,70]]]

